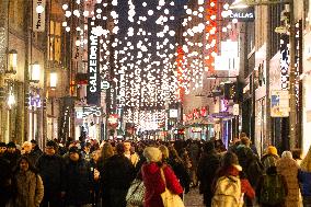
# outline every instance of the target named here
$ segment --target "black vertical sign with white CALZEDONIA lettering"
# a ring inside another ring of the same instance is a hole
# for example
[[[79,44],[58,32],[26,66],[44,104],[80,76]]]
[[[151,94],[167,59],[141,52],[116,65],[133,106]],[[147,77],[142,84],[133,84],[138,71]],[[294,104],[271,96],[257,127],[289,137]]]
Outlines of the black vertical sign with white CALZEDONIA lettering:
[[[87,102],[90,105],[100,105],[101,103],[101,79],[99,61],[99,36],[94,33],[96,24],[92,19],[88,20],[88,87]]]

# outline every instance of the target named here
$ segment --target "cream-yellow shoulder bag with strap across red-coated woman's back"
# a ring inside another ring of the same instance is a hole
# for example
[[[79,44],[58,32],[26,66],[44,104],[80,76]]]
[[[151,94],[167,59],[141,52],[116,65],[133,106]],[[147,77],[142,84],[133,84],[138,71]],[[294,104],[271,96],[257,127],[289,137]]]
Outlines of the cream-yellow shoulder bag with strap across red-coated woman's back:
[[[161,194],[163,206],[164,207],[185,207],[182,198],[177,194],[173,194],[170,189],[168,189],[163,169],[161,168],[160,171],[161,171],[161,177],[165,185],[165,192]]]

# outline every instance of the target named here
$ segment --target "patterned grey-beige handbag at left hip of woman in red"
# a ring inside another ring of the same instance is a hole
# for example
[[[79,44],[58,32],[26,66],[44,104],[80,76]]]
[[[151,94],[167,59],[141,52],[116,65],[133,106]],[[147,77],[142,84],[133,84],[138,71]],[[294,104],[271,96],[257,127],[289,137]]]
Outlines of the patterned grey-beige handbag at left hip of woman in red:
[[[143,182],[135,179],[126,195],[127,206],[143,206],[145,191]]]

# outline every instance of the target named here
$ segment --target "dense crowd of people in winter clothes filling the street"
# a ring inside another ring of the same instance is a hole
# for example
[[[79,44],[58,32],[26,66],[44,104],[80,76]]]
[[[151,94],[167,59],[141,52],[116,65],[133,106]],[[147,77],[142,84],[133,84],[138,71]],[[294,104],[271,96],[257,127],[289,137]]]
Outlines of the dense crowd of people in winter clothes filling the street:
[[[19,149],[20,148],[20,149]],[[209,207],[311,206],[311,149],[269,146],[262,158],[245,134],[229,149],[221,140],[35,140],[0,142],[0,207],[130,207],[134,180],[145,207],[161,207],[170,189],[182,198],[199,188]]]

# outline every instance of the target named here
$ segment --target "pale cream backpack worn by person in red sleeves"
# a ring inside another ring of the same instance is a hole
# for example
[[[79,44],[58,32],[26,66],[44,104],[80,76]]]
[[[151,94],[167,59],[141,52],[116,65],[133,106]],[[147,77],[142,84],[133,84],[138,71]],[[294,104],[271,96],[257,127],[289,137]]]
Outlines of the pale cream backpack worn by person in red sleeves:
[[[221,176],[216,184],[211,207],[242,207],[241,181],[237,176]]]

